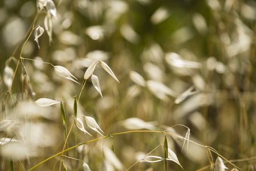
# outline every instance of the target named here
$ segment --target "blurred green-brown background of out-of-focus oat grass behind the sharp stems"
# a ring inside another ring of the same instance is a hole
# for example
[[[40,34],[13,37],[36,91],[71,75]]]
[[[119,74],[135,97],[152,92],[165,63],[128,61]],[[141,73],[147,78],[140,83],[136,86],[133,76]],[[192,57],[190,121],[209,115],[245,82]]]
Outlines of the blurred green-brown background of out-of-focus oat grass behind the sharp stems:
[[[77,129],[75,140],[73,130],[69,146],[101,137],[82,115],[94,117],[104,135],[168,129],[185,137],[187,128],[177,125],[182,124],[190,129],[190,140],[212,146],[242,170],[256,170],[255,1],[60,0],[40,6],[44,2],[0,2],[0,121],[12,121],[0,132],[2,170],[9,169],[11,157],[15,170],[26,170],[63,148],[59,105],[38,107],[34,101],[78,97],[82,86],[41,62],[67,68],[82,84],[96,59],[107,63],[120,83],[97,64],[94,75],[103,98],[88,79],[78,104],[78,117],[93,137]],[[39,62],[19,63],[5,104],[22,45],[41,7],[35,22],[44,28],[40,49],[33,31],[21,55]],[[74,98],[63,101],[70,129]],[[184,170],[211,170],[205,148],[189,143],[181,150],[181,139],[167,137]],[[5,138],[13,140],[4,144]],[[113,145],[128,169],[163,143],[160,133],[128,133],[66,156],[83,160],[91,170],[112,170],[103,146]],[[164,157],[162,146],[150,155]],[[58,170],[59,160],[35,170]],[[82,161],[63,157],[63,162],[67,170],[83,170]],[[129,170],[163,170],[163,161],[139,162]],[[182,168],[169,161],[169,170]]]

